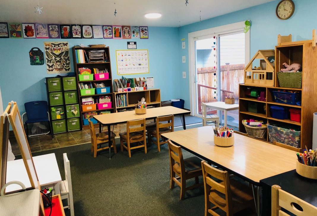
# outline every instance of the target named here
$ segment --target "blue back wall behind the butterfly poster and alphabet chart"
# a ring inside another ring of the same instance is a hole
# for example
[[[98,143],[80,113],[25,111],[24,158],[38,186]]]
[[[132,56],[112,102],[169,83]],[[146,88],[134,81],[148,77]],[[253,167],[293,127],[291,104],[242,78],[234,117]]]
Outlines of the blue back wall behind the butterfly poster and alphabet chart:
[[[164,32],[168,32],[168,37]],[[24,103],[36,100],[47,100],[44,77],[54,77],[57,74],[47,74],[46,65],[30,65],[29,50],[39,47],[44,50],[44,41],[68,41],[69,48],[74,45],[106,44],[110,48],[110,58],[113,79],[117,75],[116,49],[126,49],[127,41],[136,41],[138,49],[149,50],[149,74],[126,75],[125,77],[154,77],[154,87],[161,89],[161,99],[170,100],[178,97],[178,91],[171,91],[174,80],[177,79],[178,65],[178,28],[149,27],[149,39],[0,39],[0,87],[3,105],[16,101],[21,113]],[[70,50],[71,51],[71,50]],[[72,72],[73,60],[70,52]],[[66,75],[66,74],[61,74]]]

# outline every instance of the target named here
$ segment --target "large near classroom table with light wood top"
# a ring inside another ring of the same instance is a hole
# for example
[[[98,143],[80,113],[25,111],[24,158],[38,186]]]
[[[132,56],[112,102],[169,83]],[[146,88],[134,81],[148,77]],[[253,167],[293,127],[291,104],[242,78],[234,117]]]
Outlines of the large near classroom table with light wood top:
[[[163,133],[175,145],[215,164],[243,180],[258,186],[260,206],[260,180],[296,168],[294,151],[272,145],[240,134],[234,134],[235,144],[219,147],[213,142],[212,126],[197,127],[186,131]],[[225,139],[225,138],[223,138]],[[258,211],[259,215],[260,211]]]

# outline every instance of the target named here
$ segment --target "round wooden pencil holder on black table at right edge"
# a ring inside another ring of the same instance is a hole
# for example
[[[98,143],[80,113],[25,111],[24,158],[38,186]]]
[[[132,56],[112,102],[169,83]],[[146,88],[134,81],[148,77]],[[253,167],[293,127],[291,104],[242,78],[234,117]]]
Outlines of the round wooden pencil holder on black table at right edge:
[[[304,149],[303,153],[296,153],[296,172],[310,179],[317,179],[317,149]]]

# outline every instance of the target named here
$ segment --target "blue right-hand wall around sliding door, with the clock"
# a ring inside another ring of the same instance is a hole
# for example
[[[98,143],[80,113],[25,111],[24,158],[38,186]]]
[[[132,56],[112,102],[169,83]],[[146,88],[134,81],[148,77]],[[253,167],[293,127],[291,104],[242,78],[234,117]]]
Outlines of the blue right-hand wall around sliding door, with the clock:
[[[188,33],[207,28],[227,25],[235,22],[251,20],[251,51],[250,58],[260,49],[274,49],[277,45],[277,35],[292,34],[292,40],[311,40],[312,30],[317,28],[316,0],[294,1],[295,11],[288,20],[280,20],[275,15],[279,1],[273,1],[255,7],[239,10],[230,14],[218,16],[202,22],[183,26],[178,32],[178,49],[180,64],[178,77],[186,71],[186,79],[179,78],[179,97],[185,100],[185,108],[190,108],[189,102],[189,64],[188,64]],[[186,49],[181,47],[181,39],[186,39]],[[186,63],[182,63],[182,56]]]

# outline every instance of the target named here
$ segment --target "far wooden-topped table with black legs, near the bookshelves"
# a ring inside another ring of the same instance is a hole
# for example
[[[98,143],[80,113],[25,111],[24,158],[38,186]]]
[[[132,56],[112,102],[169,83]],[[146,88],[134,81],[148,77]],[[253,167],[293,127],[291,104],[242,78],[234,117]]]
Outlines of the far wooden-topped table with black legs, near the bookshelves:
[[[165,115],[182,115],[183,117],[183,128],[186,130],[185,124],[185,114],[190,114],[191,112],[185,109],[180,109],[172,106],[167,107],[156,107],[146,110],[146,114],[135,114],[135,111],[126,111],[118,113],[109,113],[106,115],[94,115],[94,118],[99,122],[99,133],[101,133],[101,125],[108,127],[108,134],[110,134],[110,126],[120,123],[126,123],[131,120],[138,119],[155,119],[159,116]],[[111,136],[109,136],[109,159],[111,158]]]

